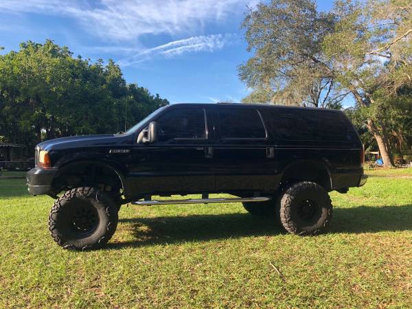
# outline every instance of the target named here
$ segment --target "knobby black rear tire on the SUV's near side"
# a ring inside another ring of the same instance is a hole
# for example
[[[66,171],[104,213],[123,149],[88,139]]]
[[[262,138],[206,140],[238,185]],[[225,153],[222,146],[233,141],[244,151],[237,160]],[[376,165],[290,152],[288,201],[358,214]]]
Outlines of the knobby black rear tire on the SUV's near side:
[[[331,219],[330,197],[317,183],[295,183],[280,198],[280,220],[289,233],[317,235],[325,231]]]

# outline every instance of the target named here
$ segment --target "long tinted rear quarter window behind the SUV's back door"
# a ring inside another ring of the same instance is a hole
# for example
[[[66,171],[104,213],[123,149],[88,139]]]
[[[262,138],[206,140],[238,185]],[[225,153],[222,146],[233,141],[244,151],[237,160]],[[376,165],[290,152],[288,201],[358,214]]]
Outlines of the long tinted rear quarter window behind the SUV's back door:
[[[282,139],[350,141],[354,138],[339,113],[328,111],[268,111],[267,121]]]

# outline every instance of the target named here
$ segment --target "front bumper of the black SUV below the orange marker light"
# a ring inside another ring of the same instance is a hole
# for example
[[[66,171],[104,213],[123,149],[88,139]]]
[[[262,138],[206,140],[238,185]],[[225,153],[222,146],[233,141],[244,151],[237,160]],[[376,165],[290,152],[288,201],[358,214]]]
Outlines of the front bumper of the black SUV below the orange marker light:
[[[52,183],[58,175],[56,169],[32,168],[26,174],[27,190],[32,195],[54,194]]]

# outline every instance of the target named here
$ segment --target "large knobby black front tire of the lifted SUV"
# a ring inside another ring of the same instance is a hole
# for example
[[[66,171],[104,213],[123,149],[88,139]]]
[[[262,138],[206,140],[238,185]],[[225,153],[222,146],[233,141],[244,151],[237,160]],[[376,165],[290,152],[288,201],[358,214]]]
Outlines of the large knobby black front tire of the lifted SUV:
[[[54,203],[49,231],[65,249],[96,249],[111,239],[117,220],[117,205],[107,194],[93,187],[78,187]]]

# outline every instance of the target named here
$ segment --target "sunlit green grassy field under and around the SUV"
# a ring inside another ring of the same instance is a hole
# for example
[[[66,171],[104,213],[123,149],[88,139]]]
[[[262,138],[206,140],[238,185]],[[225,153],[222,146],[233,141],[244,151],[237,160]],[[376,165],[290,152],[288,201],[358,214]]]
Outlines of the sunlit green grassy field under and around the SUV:
[[[0,179],[0,308],[411,308],[412,169],[333,192],[330,233],[299,237],[240,204],[119,212],[106,249],[49,237],[52,198]]]

